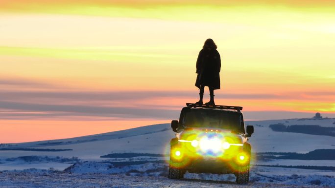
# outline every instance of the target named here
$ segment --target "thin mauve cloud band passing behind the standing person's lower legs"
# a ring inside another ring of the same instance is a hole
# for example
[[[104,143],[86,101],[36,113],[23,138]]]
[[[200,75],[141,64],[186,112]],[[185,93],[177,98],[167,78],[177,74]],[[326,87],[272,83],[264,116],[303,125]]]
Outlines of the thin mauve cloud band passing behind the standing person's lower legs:
[[[8,84],[25,84],[24,82],[8,82]],[[1,82],[0,82],[1,84]],[[29,83],[27,84],[37,84]],[[321,98],[324,96],[334,96],[333,92],[301,92],[301,93],[286,93],[286,94],[238,94],[238,93],[218,93],[215,94],[216,98],[221,99],[302,99],[304,96],[310,96],[314,98]],[[91,92],[91,91],[0,91],[1,100],[16,100],[16,99],[62,99],[62,100],[75,100],[75,101],[118,101],[118,100],[141,100],[141,99],[152,99],[152,98],[169,98],[169,97],[185,97],[185,98],[197,98],[198,92],[195,91],[115,91],[115,92]],[[310,97],[306,97],[309,99]]]

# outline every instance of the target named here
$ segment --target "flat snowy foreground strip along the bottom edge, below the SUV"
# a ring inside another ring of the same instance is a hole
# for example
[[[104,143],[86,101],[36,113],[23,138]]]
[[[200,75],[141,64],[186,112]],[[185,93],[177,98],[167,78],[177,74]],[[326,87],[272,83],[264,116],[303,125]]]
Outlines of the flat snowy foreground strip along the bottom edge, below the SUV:
[[[299,181],[299,177],[296,177]],[[294,178],[292,181],[295,181]],[[318,183],[318,181],[314,181]],[[166,177],[140,177],[120,174],[69,174],[69,173],[0,173],[1,188],[321,188],[318,185],[301,186],[251,182],[237,185],[230,181],[170,180]],[[327,187],[323,187],[327,188]]]

